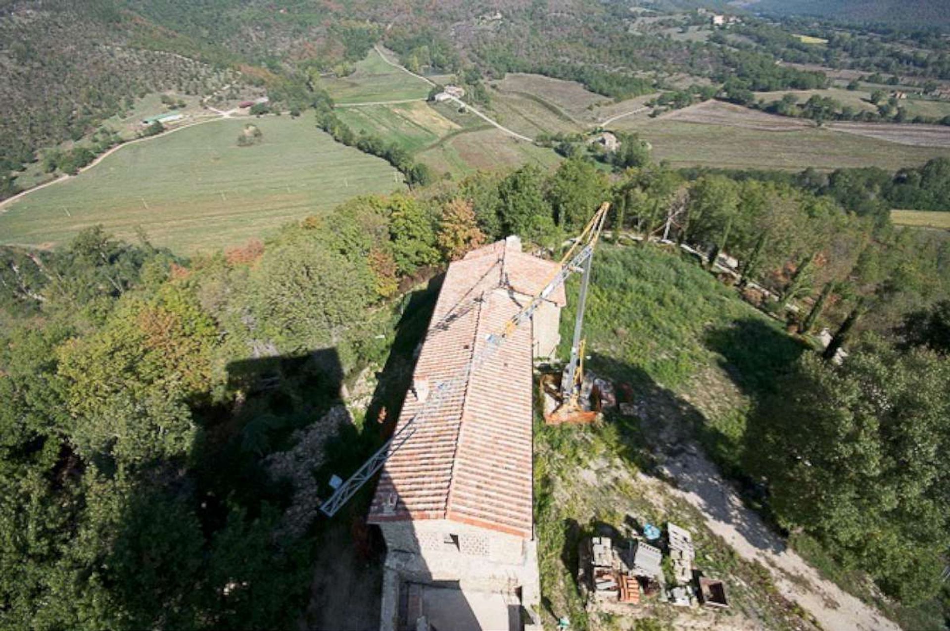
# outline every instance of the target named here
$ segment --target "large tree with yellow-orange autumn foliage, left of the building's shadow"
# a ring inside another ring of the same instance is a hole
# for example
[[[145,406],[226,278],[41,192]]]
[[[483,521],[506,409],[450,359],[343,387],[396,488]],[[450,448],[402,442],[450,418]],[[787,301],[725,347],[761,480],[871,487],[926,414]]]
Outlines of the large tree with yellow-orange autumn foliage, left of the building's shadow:
[[[167,288],[129,298],[94,335],[58,350],[70,440],[84,457],[141,463],[191,448],[188,403],[212,385],[217,328],[193,298]]]

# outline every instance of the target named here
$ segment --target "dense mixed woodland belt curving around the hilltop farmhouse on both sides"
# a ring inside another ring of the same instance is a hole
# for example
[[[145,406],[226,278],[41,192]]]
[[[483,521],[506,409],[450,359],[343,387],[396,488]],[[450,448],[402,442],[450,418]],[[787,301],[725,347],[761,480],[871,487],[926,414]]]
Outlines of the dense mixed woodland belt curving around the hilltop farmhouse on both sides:
[[[385,357],[403,292],[507,234],[557,255],[604,199],[612,240],[675,213],[671,239],[737,258],[747,299],[789,330],[835,332],[750,420],[769,419],[756,435],[774,449],[724,466],[890,597],[936,598],[950,241],[869,211],[860,174],[750,175],[646,163],[612,182],[575,157],[357,198],[191,260],[101,229],[3,248],[0,626],[293,625],[322,527],[315,481],[383,438],[334,406]],[[337,430],[345,448],[313,447]]]

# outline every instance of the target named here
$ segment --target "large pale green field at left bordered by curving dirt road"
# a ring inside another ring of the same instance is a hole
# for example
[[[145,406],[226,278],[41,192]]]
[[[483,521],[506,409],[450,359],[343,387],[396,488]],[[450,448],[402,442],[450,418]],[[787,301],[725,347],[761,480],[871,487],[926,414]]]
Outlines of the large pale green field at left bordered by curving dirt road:
[[[256,119],[263,142],[238,147],[246,120],[199,124],[124,146],[74,179],[3,208],[0,243],[50,246],[102,223],[141,225],[189,254],[261,237],[364,193],[402,189],[388,163],[334,143],[309,117]]]

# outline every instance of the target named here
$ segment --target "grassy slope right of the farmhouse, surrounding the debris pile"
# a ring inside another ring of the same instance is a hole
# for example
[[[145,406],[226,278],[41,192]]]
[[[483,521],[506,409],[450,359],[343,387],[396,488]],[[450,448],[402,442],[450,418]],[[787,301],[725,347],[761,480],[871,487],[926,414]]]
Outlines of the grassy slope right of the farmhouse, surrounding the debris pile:
[[[561,314],[561,354],[571,339],[577,284],[569,283]],[[602,425],[538,429],[539,557],[550,610],[578,628],[628,628],[583,612],[573,577],[581,537],[598,526],[619,528],[629,515],[693,531],[697,564],[728,584],[735,628],[812,628],[776,593],[764,567],[735,555],[662,476],[654,477],[657,450],[683,449],[677,443],[693,432],[721,436],[718,454],[730,458],[750,406],[737,384],[769,380],[802,346],[698,265],[652,246],[599,248],[584,328],[589,370],[611,379],[619,399],[642,412],[610,411]],[[699,616],[656,604],[637,615],[644,613],[670,625],[657,628],[693,628],[688,620]]]

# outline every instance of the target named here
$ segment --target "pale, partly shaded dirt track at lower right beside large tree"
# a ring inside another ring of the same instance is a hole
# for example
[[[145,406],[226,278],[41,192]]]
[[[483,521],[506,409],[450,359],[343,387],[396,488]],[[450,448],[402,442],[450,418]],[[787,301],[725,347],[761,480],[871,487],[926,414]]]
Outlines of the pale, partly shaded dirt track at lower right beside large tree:
[[[702,451],[692,444],[669,458],[666,472],[675,478],[679,495],[702,511],[707,526],[745,559],[769,568],[775,585],[788,600],[798,602],[828,631],[900,631],[875,608],[822,579],[749,508]]]

